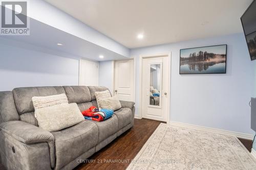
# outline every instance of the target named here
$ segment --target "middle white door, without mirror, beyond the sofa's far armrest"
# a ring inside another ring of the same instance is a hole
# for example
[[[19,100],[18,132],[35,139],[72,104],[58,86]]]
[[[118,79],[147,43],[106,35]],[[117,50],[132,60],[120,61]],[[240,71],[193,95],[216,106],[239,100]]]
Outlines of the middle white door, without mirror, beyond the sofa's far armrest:
[[[115,62],[114,95],[122,101],[134,101],[134,61]]]

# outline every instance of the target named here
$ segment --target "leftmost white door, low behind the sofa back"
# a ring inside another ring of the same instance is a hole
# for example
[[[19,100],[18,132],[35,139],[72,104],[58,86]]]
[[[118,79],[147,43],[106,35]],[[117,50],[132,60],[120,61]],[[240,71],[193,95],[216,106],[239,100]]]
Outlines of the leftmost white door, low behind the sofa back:
[[[79,85],[98,86],[99,85],[99,63],[80,59],[79,62]]]

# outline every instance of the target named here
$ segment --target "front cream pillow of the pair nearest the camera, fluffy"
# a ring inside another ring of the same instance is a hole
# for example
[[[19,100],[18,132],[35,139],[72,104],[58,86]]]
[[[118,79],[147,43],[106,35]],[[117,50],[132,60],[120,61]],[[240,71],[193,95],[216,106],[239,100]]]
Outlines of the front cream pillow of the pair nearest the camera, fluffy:
[[[36,109],[35,117],[39,127],[50,132],[71,127],[84,120],[76,103],[65,103]]]

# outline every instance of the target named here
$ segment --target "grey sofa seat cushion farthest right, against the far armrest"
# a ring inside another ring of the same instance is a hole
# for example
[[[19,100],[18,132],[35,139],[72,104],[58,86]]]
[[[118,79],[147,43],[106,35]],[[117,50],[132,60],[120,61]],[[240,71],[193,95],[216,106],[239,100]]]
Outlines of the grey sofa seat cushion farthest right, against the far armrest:
[[[114,112],[118,118],[118,130],[132,123],[132,110],[129,108],[121,108]]]

